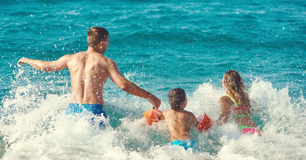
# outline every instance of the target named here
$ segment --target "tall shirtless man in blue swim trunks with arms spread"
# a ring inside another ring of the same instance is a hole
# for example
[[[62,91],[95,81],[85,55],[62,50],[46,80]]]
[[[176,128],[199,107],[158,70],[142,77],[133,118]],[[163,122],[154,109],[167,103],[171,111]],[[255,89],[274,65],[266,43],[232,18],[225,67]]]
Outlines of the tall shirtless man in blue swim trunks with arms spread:
[[[18,65],[29,64],[41,71],[60,71],[68,67],[71,99],[66,114],[82,113],[85,108],[97,116],[107,118],[103,110],[103,87],[108,77],[123,91],[149,100],[153,109],[160,106],[160,100],[155,95],[127,80],[119,72],[115,61],[104,56],[109,46],[109,33],[105,28],[91,27],[87,33],[87,42],[88,50],[64,55],[56,61],[21,58]]]

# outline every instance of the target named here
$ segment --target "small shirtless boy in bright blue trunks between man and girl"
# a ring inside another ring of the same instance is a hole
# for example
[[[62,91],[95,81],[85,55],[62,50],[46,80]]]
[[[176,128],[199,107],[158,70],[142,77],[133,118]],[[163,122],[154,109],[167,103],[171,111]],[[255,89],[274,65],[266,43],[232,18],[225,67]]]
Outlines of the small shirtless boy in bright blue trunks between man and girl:
[[[193,113],[184,110],[187,105],[186,93],[182,88],[175,88],[169,91],[168,98],[171,110],[164,111],[159,120],[165,120],[172,145],[183,146],[185,150],[192,148],[194,142],[189,131],[199,122]]]

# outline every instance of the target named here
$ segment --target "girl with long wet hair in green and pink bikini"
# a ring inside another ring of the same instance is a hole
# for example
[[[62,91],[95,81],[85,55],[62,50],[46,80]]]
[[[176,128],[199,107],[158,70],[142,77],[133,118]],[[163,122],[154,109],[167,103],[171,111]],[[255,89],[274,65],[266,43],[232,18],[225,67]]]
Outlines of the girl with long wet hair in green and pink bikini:
[[[234,118],[238,129],[243,134],[257,132],[260,135],[260,131],[252,119],[250,99],[246,93],[248,88],[243,83],[239,73],[234,70],[228,70],[223,76],[222,86],[226,90],[226,95],[219,99],[221,115],[216,121],[217,124],[222,125],[227,123],[229,118]],[[234,111],[234,116],[230,117],[232,110]]]

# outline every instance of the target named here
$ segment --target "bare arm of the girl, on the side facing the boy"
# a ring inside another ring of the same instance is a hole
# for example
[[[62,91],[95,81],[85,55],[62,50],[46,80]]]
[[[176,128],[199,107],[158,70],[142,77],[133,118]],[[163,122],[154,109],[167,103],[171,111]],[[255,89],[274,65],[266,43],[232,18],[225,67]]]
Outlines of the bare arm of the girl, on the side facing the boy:
[[[227,96],[223,96],[219,99],[219,105],[221,109],[221,115],[216,120],[217,125],[221,126],[223,123],[227,123],[228,119],[230,118],[231,112],[231,100]]]

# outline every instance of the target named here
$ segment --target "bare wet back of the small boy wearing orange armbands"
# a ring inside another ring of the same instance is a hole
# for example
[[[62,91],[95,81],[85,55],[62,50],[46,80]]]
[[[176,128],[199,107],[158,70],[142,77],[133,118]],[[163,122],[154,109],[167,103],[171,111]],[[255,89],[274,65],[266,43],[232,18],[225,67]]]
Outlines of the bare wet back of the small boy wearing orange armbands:
[[[197,121],[193,113],[181,110],[166,110],[162,113],[170,132],[170,140],[192,140],[189,132],[196,127]]]

